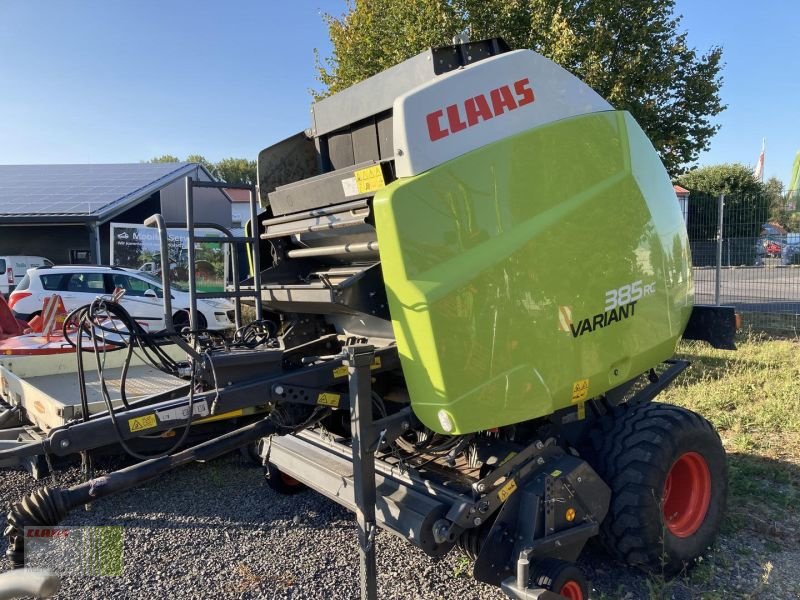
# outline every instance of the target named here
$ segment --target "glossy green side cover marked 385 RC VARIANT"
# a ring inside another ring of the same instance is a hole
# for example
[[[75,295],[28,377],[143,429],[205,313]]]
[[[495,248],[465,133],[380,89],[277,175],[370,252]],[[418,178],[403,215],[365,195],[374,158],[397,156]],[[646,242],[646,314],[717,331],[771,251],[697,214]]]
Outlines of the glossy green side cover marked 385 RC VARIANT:
[[[374,212],[412,406],[435,431],[579,414],[669,358],[691,312],[681,212],[625,112],[398,180]]]

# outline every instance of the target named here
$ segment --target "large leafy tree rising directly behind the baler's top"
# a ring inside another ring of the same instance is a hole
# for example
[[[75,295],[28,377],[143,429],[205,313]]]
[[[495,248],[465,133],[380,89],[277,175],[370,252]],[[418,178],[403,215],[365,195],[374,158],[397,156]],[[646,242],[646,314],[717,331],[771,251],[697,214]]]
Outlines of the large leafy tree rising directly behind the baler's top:
[[[719,128],[722,50],[698,54],[680,31],[674,0],[348,0],[324,15],[332,55],[317,59],[324,89],[341,91],[430,46],[500,36],[568,69],[628,110],[667,170],[683,172]],[[392,35],[386,35],[391,31]]]

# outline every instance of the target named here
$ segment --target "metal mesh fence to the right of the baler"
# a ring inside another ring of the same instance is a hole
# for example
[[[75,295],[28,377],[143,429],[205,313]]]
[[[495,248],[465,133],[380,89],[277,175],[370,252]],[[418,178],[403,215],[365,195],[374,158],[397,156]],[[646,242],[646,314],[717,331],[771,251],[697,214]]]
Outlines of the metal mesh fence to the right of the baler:
[[[684,216],[695,302],[733,305],[753,329],[800,333],[800,234],[769,222],[769,199],[693,192]]]

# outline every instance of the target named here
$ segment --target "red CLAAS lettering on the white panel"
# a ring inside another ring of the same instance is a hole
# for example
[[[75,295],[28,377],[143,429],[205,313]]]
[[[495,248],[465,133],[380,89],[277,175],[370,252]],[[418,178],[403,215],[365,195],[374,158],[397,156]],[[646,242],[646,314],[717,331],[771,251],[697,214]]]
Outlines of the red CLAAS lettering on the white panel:
[[[482,121],[532,104],[535,99],[527,77],[511,85],[501,85],[488,94],[478,94],[460,104],[451,104],[429,113],[426,117],[428,135],[432,142],[436,142]]]

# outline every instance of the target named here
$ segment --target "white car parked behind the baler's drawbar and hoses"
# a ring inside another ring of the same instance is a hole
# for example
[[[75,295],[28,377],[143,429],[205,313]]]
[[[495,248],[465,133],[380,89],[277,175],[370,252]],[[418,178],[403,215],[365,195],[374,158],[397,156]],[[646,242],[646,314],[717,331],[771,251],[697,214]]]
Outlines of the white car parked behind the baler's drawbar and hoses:
[[[30,320],[42,310],[46,297],[58,294],[67,312],[90,304],[98,296],[125,290],[120,304],[147,331],[164,329],[164,291],[152,275],[122,267],[64,265],[28,269],[8,299],[17,318]],[[172,319],[176,329],[189,325],[189,293],[172,286]],[[235,324],[228,300],[198,299],[200,329],[228,329]]]

